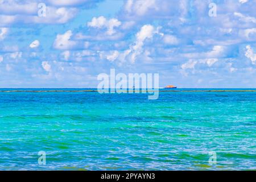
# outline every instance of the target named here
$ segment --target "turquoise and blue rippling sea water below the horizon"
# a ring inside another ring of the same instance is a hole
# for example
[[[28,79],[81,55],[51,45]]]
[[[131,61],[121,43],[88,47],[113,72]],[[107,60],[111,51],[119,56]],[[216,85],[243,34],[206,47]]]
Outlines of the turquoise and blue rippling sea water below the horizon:
[[[158,100],[7,90],[0,90],[2,170],[256,169],[255,89],[177,89]]]

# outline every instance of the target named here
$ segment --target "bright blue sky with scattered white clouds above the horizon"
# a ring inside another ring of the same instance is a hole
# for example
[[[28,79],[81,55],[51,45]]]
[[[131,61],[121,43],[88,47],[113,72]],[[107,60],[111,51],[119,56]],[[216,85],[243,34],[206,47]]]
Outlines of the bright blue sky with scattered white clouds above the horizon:
[[[256,0],[0,0],[0,88],[256,88],[255,41]]]

